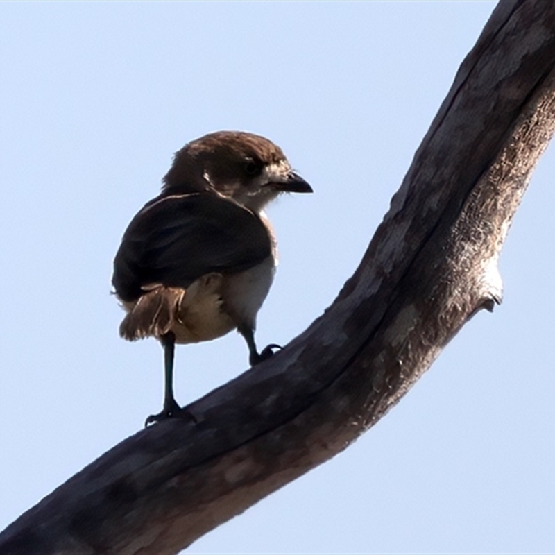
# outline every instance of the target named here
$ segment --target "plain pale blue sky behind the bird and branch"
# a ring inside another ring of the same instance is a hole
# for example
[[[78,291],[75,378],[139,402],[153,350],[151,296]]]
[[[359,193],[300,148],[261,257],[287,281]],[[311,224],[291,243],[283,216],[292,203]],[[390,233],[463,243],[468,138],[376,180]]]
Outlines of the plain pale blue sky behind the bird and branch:
[[[160,410],[162,350],[119,339],[110,278],[173,152],[248,130],[313,186],[268,210],[257,340],[287,343],[359,264],[494,6],[0,3],[0,529]],[[555,551],[554,173],[549,149],[502,306],[348,450],[189,553]],[[247,367],[234,333],[178,347],[176,397]]]

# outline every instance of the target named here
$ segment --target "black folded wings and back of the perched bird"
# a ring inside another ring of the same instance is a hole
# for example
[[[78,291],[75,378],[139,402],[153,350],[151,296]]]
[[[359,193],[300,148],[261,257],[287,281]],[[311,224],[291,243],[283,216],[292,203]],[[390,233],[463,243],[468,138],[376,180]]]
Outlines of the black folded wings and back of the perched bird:
[[[162,197],[123,234],[112,284],[121,300],[132,301],[147,284],[186,288],[205,273],[247,270],[271,249],[259,216],[232,200],[203,193]]]

